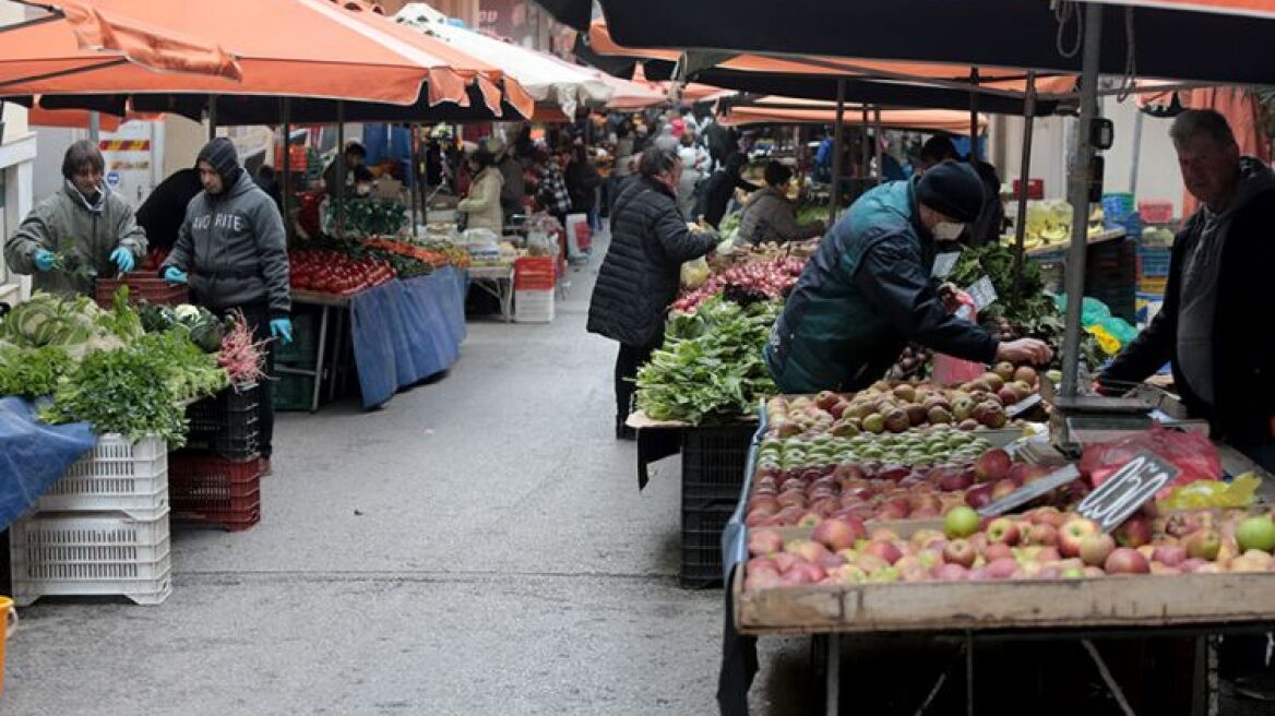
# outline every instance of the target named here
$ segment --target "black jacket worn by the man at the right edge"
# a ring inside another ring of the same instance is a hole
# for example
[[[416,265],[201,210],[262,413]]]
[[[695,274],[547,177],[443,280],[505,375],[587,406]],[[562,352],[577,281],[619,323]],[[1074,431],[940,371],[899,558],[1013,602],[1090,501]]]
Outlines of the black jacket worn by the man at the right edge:
[[[1275,442],[1275,331],[1267,330],[1270,299],[1262,297],[1275,275],[1275,177],[1256,159],[1244,159],[1244,181],[1261,182],[1256,191],[1237,196],[1228,223],[1213,241],[1224,242],[1216,280],[1213,322],[1213,405],[1191,389],[1178,355],[1178,316],[1183,266],[1200,242],[1204,209],[1195,213],[1173,241],[1164,304],[1133,343],[1099,378],[1113,392],[1123,392],[1165,363],[1173,368],[1182,403],[1195,418],[1207,419],[1216,433],[1235,447]]]

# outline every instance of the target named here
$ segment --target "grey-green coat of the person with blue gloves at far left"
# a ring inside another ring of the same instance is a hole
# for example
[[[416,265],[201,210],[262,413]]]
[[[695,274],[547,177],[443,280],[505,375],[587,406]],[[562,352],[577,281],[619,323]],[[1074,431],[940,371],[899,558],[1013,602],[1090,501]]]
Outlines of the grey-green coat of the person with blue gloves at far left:
[[[133,252],[136,264],[147,255],[147,232],[138,226],[133,208],[106,186],[96,204],[64,181],[62,187],[36,205],[5,241],[4,257],[9,268],[32,275],[32,288],[62,296],[93,294],[93,279],[78,279],[61,271],[36,269],[37,248],[73,255],[99,276],[113,276],[119,266],[111,260],[116,248]]]

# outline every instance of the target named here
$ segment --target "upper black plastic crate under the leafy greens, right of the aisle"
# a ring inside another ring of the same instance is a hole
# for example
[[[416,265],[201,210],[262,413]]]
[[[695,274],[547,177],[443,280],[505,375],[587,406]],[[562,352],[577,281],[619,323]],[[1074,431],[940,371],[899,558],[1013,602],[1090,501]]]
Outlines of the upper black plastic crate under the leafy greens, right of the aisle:
[[[682,431],[682,510],[740,499],[756,426]]]

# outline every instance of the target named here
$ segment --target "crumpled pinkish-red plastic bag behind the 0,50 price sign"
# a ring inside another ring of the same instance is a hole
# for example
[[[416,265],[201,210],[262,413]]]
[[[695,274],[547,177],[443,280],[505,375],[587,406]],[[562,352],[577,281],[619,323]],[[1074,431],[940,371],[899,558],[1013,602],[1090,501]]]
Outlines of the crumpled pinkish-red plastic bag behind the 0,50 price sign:
[[[1116,442],[1085,446],[1085,455],[1080,459],[1080,471],[1089,475],[1096,488],[1142,450],[1155,454],[1178,469],[1178,476],[1160,490],[1158,499],[1167,498],[1169,488],[1177,485],[1221,479],[1221,457],[1207,436],[1160,426],[1151,426],[1146,432]]]

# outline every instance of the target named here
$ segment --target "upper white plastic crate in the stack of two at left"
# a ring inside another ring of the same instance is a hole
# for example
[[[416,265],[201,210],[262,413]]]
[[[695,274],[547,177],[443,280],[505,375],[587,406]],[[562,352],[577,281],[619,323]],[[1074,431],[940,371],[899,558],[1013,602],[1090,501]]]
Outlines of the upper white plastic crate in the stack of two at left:
[[[40,512],[124,512],[154,520],[168,508],[168,446],[148,437],[129,445],[101,436],[36,503]]]

